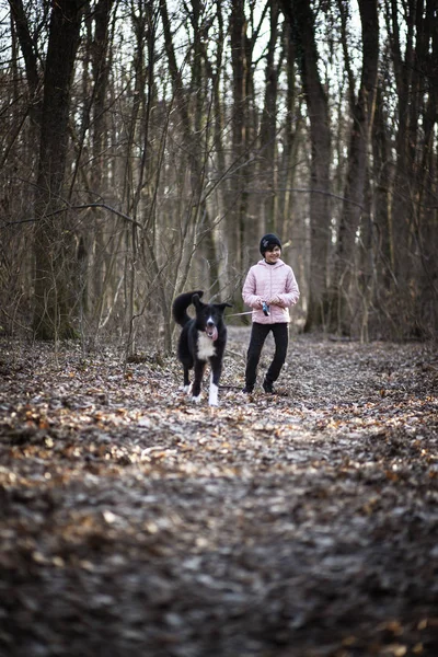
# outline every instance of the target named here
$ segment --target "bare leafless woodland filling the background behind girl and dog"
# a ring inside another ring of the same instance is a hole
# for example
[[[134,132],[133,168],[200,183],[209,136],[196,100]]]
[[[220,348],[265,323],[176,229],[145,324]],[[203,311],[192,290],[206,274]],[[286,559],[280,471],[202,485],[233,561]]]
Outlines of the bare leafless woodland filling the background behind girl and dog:
[[[297,330],[429,338],[434,0],[0,2],[1,332],[169,350],[265,231]]]

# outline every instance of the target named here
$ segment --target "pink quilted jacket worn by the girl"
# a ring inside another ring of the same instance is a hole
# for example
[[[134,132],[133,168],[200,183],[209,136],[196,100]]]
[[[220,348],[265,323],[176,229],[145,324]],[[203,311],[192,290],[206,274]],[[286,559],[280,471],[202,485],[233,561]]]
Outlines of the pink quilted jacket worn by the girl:
[[[270,314],[266,316],[262,310],[263,301],[279,297],[279,304],[270,306]],[[264,260],[253,265],[247,273],[242,290],[243,301],[253,309],[253,322],[258,324],[277,324],[290,322],[289,307],[297,303],[300,290],[292,268],[279,260],[268,265]]]

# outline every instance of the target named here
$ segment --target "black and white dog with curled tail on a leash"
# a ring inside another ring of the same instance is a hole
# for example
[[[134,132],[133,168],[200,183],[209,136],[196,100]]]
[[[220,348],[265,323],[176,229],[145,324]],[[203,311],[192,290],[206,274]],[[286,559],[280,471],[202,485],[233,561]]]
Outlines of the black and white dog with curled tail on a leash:
[[[192,385],[193,401],[199,401],[200,385],[207,361],[210,364],[210,390],[208,403],[218,405],[219,379],[222,371],[223,351],[227,344],[227,326],[223,311],[231,303],[203,303],[204,292],[184,292],[172,304],[173,319],[183,327],[177,347],[177,356],[184,368],[184,390],[189,390],[189,370],[195,368]],[[187,308],[194,304],[196,316],[191,318]]]

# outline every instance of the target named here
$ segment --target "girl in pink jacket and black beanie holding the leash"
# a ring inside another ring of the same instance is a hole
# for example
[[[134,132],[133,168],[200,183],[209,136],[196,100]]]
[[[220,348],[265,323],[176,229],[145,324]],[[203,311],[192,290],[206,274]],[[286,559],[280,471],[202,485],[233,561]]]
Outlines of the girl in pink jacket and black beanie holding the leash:
[[[280,258],[281,242],[277,235],[264,235],[260,251],[263,260],[251,267],[242,290],[243,301],[253,309],[243,392],[251,393],[254,390],[262,348],[272,331],[275,354],[263,381],[263,389],[273,394],[273,383],[278,379],[286,360],[289,308],[297,303],[300,290],[291,267]]]

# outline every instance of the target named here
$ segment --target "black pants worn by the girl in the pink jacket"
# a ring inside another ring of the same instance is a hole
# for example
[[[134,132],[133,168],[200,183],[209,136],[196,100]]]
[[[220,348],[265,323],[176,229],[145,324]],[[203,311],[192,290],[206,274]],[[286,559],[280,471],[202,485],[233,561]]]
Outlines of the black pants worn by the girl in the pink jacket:
[[[272,331],[274,335],[275,354],[266,372],[265,381],[267,383],[274,383],[274,381],[278,379],[281,368],[285,365],[289,341],[288,324],[286,322],[278,324],[257,324],[257,322],[254,322],[251,331],[250,346],[246,354],[246,388],[254,388],[255,380],[257,378],[258,360],[269,331]]]

